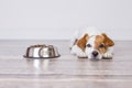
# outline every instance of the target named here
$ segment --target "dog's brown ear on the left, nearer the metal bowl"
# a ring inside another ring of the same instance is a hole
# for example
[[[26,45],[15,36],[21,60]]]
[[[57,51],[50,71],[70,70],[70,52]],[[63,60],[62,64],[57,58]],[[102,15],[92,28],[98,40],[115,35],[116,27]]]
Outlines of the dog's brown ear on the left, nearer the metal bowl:
[[[77,45],[78,45],[82,51],[85,51],[85,48],[86,48],[86,43],[87,43],[88,38],[89,38],[89,35],[88,35],[88,34],[85,34],[81,38],[79,38],[79,40],[77,41]]]

